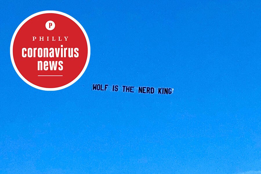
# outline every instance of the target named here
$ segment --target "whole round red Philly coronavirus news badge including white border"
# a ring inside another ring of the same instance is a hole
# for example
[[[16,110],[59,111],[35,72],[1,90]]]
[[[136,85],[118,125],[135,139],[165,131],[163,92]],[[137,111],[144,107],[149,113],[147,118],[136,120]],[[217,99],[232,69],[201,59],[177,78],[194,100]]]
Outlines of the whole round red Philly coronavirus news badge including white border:
[[[27,84],[40,90],[60,90],[83,75],[90,59],[90,41],[70,15],[42,11],[15,30],[10,55],[15,71]]]

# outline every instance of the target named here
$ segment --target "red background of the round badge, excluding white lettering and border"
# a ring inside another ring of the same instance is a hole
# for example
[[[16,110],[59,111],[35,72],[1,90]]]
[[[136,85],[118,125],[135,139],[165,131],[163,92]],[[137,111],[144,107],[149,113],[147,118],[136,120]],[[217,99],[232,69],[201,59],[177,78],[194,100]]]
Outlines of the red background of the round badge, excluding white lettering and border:
[[[55,28],[47,30],[45,24],[47,21],[54,21]],[[37,37],[32,41],[33,36]],[[44,36],[44,41],[39,41],[39,36]],[[47,40],[49,36],[49,41]],[[54,36],[56,41],[51,41]],[[62,41],[58,41],[58,37]],[[67,37],[65,41],[64,36]],[[54,58],[23,58],[22,48],[79,48],[79,57],[54,57]],[[83,70],[88,54],[88,47],[86,37],[81,28],[71,19],[61,14],[46,13],[29,19],[20,30],[14,39],[13,44],[13,57],[17,69],[21,75],[36,86],[43,88],[58,88],[73,81]],[[37,70],[37,61],[63,61],[63,70],[47,71]],[[38,75],[63,75],[58,77],[39,77]]]

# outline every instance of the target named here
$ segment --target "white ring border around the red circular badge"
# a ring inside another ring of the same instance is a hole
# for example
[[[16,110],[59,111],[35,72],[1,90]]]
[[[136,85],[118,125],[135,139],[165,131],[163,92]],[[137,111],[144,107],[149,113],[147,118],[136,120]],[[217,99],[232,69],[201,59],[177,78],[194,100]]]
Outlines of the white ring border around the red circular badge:
[[[33,17],[36,17],[40,14],[46,14],[46,13],[54,13],[54,14],[61,14],[65,17],[68,17],[69,19],[71,19],[72,21],[74,21],[82,30],[82,32],[84,33],[84,36],[85,36],[85,39],[86,39],[86,42],[87,42],[87,49],[88,49],[88,52],[87,52],[87,60],[86,60],[86,63],[84,65],[84,68],[82,69],[81,73],[73,80],[71,81],[70,83],[64,85],[64,86],[60,86],[60,87],[56,87],[56,88],[44,88],[44,87],[41,87],[41,86],[37,86],[35,84],[32,84],[30,81],[28,81],[26,78],[23,77],[23,75],[19,72],[17,66],[15,65],[15,62],[14,62],[14,56],[13,56],[13,45],[14,45],[14,39],[17,35],[17,32],[20,30],[20,28],[23,26],[23,24],[25,24],[28,20],[32,19]],[[28,85],[34,87],[34,88],[37,88],[37,89],[40,89],[40,90],[46,90],[46,91],[55,91],[55,90],[61,90],[61,89],[64,89],[64,88],[67,88],[69,86],[71,86],[72,84],[74,84],[85,72],[88,64],[89,64],[89,61],[90,61],[90,41],[89,41],[89,38],[88,38],[88,35],[86,33],[86,31],[84,30],[83,26],[81,26],[81,24],[76,20],[74,19],[73,17],[71,17],[70,15],[66,14],[66,13],[63,13],[63,12],[59,12],[59,11],[55,11],[55,10],[46,10],[46,11],[41,11],[41,12],[37,12],[35,14],[32,14],[31,16],[27,17],[25,20],[23,20],[22,23],[20,23],[20,25],[17,27],[17,29],[15,30],[14,32],[14,35],[12,37],[12,40],[11,40],[11,45],[10,45],[10,56],[11,56],[11,61],[12,61],[12,64],[13,64],[13,67],[16,71],[16,73],[19,75],[19,77],[24,81],[26,82]]]

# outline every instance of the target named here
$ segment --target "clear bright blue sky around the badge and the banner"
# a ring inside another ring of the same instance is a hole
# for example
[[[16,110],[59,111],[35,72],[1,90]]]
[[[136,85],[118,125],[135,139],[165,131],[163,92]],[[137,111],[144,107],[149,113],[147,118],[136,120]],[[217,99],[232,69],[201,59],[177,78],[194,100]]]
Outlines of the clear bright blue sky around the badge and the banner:
[[[260,1],[0,6],[0,173],[261,173]],[[84,75],[59,91],[27,85],[10,60],[15,29],[43,10],[71,15],[90,39]]]

